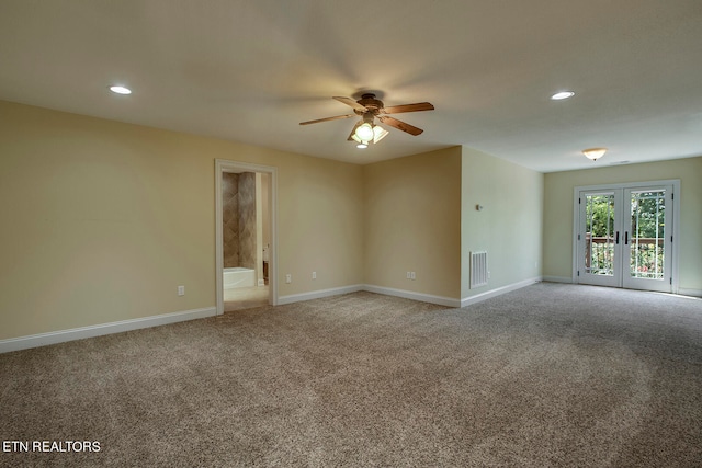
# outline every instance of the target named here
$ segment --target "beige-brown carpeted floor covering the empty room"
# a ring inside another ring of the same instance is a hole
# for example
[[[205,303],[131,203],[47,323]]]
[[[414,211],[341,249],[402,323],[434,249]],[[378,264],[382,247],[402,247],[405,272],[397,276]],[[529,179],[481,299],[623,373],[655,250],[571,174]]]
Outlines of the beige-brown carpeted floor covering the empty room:
[[[8,353],[0,377],[3,448],[30,445],[1,466],[702,466],[702,300],[653,293],[355,293]]]

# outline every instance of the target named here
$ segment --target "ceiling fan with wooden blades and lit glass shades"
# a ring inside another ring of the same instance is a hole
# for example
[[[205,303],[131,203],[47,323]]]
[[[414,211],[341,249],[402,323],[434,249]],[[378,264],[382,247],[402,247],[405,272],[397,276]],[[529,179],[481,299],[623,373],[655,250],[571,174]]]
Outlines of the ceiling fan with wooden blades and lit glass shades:
[[[375,99],[375,94],[365,93],[361,95],[358,101],[351,98],[333,96],[339,102],[342,102],[353,107],[354,114],[337,115],[335,117],[317,118],[316,121],[301,122],[299,125],[318,124],[319,122],[338,121],[340,118],[349,118],[356,115],[361,116],[361,119],[356,122],[349,134],[349,141],[356,141],[359,148],[366,148],[369,144],[376,144],[388,132],[378,125],[375,125],[374,121],[377,117],[383,124],[395,127],[399,130],[417,136],[422,132],[421,128],[417,128],[414,125],[409,125],[403,121],[398,121],[395,117],[390,117],[388,114],[400,114],[403,112],[418,112],[418,111],[433,111],[434,106],[428,102],[418,102],[416,104],[403,104],[385,107],[383,101]]]

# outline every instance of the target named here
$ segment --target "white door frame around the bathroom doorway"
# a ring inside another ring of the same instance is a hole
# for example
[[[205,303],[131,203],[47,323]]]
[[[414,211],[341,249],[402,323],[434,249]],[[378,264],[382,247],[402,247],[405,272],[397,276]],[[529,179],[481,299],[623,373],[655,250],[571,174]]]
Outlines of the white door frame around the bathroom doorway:
[[[222,203],[222,175],[225,173],[259,172],[270,175],[270,217],[271,217],[271,247],[269,250],[269,304],[278,305],[278,168],[271,165],[251,164],[248,162],[215,159],[215,290],[217,315],[224,313],[224,236],[222,232],[223,203]]]

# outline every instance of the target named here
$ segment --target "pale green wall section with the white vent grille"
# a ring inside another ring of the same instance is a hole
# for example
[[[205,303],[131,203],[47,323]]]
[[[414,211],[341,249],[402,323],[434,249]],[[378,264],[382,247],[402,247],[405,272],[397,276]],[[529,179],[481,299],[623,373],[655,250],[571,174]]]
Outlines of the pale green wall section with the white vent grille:
[[[543,174],[463,147],[462,179],[461,297],[539,277]],[[490,278],[471,289],[469,255],[483,250]]]

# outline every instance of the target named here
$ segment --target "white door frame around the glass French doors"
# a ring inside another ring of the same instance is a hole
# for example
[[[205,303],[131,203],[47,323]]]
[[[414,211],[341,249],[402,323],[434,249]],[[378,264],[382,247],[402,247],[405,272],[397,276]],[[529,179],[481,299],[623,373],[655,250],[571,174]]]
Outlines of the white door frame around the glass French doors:
[[[580,217],[579,217],[579,203],[578,196],[580,192],[584,191],[608,191],[608,190],[624,190],[627,189],[642,189],[647,186],[656,186],[656,185],[672,185],[672,220],[671,220],[671,231],[670,233],[666,232],[666,236],[672,236],[672,244],[671,244],[671,284],[670,292],[673,294],[678,294],[679,292],[679,255],[680,255],[680,179],[671,179],[671,180],[659,180],[659,181],[641,181],[641,182],[624,182],[624,183],[611,183],[611,184],[600,184],[600,185],[579,185],[573,189],[573,273],[571,281],[575,284],[580,283],[578,277],[578,232],[580,228]],[[620,286],[621,287],[621,286]]]

